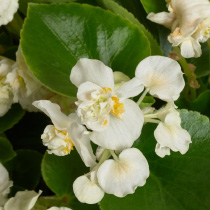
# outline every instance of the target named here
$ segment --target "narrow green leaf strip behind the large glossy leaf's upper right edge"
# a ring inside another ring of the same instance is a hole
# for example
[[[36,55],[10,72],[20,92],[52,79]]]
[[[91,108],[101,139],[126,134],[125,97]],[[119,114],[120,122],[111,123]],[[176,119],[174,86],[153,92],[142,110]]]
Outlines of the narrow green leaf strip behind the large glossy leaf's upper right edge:
[[[140,31],[142,31],[149,43],[151,48],[151,55],[162,55],[160,50],[160,46],[158,45],[157,41],[153,38],[152,34],[142,25],[132,13],[128,12],[125,8],[121,7],[119,4],[115,3],[112,0],[97,0],[103,8],[106,8],[115,14],[118,14],[126,19],[128,19],[131,23],[135,24]]]

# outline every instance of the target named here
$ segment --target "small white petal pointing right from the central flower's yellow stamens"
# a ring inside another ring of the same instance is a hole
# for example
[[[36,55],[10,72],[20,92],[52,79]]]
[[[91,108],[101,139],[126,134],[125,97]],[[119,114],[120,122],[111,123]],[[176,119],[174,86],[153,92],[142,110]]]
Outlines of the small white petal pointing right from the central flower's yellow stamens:
[[[140,83],[139,79],[133,78],[120,86],[116,94],[119,98],[130,98],[139,95],[143,89],[144,86]]]

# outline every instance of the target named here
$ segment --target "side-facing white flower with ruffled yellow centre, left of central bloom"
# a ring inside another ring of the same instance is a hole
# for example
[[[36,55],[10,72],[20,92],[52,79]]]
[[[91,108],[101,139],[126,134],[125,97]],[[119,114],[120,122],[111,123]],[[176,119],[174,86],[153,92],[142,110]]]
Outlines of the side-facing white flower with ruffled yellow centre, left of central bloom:
[[[50,117],[54,124],[48,125],[42,134],[43,143],[48,147],[49,153],[67,155],[75,146],[87,167],[96,164],[90,139],[85,134],[85,127],[78,123],[76,114],[66,116],[57,104],[47,100],[35,101],[33,105]]]

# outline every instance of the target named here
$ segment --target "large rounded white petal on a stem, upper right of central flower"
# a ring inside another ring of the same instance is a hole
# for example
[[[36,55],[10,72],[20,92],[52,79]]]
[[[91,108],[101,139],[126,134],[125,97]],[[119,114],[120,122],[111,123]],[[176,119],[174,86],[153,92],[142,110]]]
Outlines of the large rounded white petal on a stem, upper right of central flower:
[[[164,101],[177,100],[185,85],[178,62],[163,56],[150,56],[141,61],[136,77],[149,88],[151,95]]]

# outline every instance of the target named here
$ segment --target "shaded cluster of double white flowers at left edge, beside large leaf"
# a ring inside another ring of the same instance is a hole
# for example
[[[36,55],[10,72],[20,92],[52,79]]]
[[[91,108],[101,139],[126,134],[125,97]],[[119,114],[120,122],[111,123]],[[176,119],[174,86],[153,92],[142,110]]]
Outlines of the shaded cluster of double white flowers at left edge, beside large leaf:
[[[37,111],[32,105],[33,101],[44,98],[58,101],[55,95],[31,73],[20,47],[16,53],[16,62],[0,57],[0,117],[7,113],[13,103],[20,103],[27,111]]]

